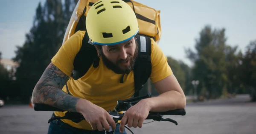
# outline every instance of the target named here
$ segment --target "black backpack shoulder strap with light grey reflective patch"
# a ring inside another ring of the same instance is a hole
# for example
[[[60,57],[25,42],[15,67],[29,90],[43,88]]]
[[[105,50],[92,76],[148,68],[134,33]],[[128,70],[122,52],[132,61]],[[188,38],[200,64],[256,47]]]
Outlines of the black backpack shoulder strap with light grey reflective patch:
[[[134,97],[148,81],[151,74],[151,39],[148,36],[137,35],[138,57],[134,66]]]

